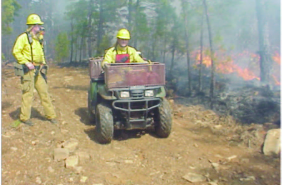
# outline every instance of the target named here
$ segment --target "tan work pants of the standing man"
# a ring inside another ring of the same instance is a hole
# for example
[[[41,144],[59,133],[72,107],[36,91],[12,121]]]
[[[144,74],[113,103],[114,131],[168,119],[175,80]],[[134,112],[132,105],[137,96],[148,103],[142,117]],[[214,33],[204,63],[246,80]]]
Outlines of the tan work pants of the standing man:
[[[48,94],[47,83],[40,72],[38,72],[38,75],[35,77],[35,69],[33,69],[21,77],[22,104],[20,120],[26,121],[30,119],[34,88],[37,90],[41,104],[44,107],[45,117],[47,119],[55,118],[56,113]]]

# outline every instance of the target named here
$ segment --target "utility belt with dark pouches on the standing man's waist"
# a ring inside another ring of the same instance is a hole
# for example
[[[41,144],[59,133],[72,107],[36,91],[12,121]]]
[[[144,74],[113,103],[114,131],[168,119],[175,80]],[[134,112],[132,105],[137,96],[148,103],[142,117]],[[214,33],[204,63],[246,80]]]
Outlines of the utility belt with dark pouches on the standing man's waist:
[[[42,75],[42,77],[45,79],[47,82],[47,69],[48,66],[44,65],[42,63],[34,63],[32,62],[35,68],[35,77],[39,74]],[[30,69],[25,65],[25,64],[19,64],[17,62],[14,62],[14,67],[15,67],[15,75],[16,76],[24,76],[26,73],[30,71]]]

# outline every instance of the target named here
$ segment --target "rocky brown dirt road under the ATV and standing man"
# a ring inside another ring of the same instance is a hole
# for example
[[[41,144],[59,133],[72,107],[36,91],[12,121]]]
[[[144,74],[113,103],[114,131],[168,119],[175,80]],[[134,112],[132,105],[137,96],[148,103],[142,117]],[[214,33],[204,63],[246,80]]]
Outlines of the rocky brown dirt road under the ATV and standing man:
[[[35,126],[13,127],[20,107],[19,83],[12,69],[2,69],[2,184],[280,184],[280,158],[260,152],[267,131],[262,125],[242,127],[201,106],[175,103],[168,138],[127,131],[101,145],[87,117],[88,69],[51,67],[48,71],[58,125],[44,119],[35,93],[31,118]],[[64,160],[53,160],[54,149],[71,138],[79,144],[70,155],[90,156],[79,161],[80,170],[65,168]],[[189,182],[189,173],[202,181]]]

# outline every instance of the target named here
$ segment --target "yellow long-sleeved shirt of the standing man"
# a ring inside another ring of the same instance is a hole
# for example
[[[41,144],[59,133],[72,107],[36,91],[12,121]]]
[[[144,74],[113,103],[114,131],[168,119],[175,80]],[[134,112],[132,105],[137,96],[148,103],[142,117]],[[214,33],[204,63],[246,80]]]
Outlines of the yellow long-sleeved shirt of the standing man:
[[[32,55],[33,62],[46,64],[44,58],[44,52],[42,46],[38,39],[32,37]],[[28,37],[26,33],[19,35],[15,41],[13,51],[14,57],[20,64],[25,64],[26,62],[31,62],[31,46],[28,42]]]

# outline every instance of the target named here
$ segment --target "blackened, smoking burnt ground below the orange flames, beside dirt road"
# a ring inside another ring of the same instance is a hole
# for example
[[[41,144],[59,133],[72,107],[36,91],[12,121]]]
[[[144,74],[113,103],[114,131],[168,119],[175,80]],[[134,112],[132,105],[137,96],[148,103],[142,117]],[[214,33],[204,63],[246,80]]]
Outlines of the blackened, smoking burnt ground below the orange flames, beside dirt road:
[[[195,78],[197,76],[194,76]],[[197,80],[193,81],[194,87]],[[177,91],[168,90],[168,97],[186,105],[203,105],[219,115],[232,116],[244,124],[271,122],[280,125],[280,90],[250,84],[230,85],[228,81],[217,81],[215,97],[209,98],[209,78],[203,83],[203,90],[196,90],[186,96],[187,86],[179,86]]]

